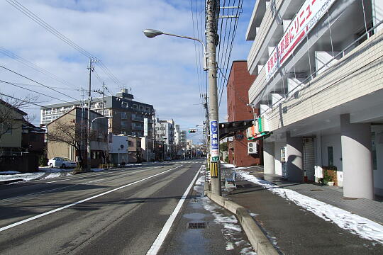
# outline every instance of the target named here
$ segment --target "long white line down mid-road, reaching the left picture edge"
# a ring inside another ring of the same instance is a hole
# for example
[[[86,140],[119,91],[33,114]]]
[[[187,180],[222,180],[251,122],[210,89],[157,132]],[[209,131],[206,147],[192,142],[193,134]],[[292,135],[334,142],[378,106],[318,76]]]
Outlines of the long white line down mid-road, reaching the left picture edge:
[[[182,165],[180,165],[180,166],[182,166]],[[114,192],[114,191],[118,191],[118,190],[120,190],[121,188],[126,188],[126,187],[128,187],[128,186],[132,186],[132,185],[134,185],[134,184],[136,184],[136,183],[140,183],[141,181],[145,181],[145,180],[151,179],[151,178],[153,178],[153,177],[155,177],[155,176],[159,176],[160,174],[165,174],[166,172],[168,172],[168,171],[172,171],[172,170],[174,170],[174,169],[177,169],[177,168],[179,168],[180,166],[176,166],[176,167],[174,167],[174,168],[172,168],[172,169],[168,169],[168,170],[166,170],[166,171],[162,171],[162,172],[159,173],[159,174],[155,174],[155,175],[146,177],[146,178],[144,178],[144,179],[140,179],[140,180],[138,180],[138,181],[134,181],[133,183],[129,183],[129,184],[126,184],[126,185],[121,186],[121,187],[118,187],[118,188],[113,188],[112,190],[110,190],[110,191],[106,191],[106,192],[101,193],[101,194],[99,194],[99,195],[92,196],[92,197],[90,197],[90,198],[85,198],[85,199],[83,199],[83,200],[79,200],[79,201],[77,201],[77,202],[75,202],[75,203],[71,203],[70,205],[65,205],[65,206],[62,206],[62,207],[60,207],[60,208],[56,208],[56,209],[54,209],[54,210],[50,210],[50,211],[48,211],[48,212],[41,213],[41,214],[39,214],[39,215],[35,215],[35,216],[30,217],[30,218],[28,218],[28,219],[26,219],[26,220],[21,220],[21,221],[19,221],[19,222],[15,222],[15,223],[13,223],[13,224],[11,224],[11,225],[8,225],[8,226],[5,226],[5,227],[1,227],[1,228],[0,228],[0,232],[4,231],[4,230],[6,230],[6,229],[10,229],[11,227],[16,227],[16,226],[21,225],[21,224],[23,224],[23,223],[30,222],[31,220],[36,220],[36,219],[38,219],[38,218],[40,218],[40,217],[43,217],[43,216],[45,216],[45,215],[50,215],[50,214],[52,214],[53,212],[58,212],[58,211],[60,211],[60,210],[64,210],[65,208],[70,208],[70,207],[72,207],[73,205],[78,205],[79,203],[84,203],[84,202],[87,202],[88,200],[91,200],[91,199],[94,199],[94,198],[98,198],[98,197],[100,197],[100,196],[104,196],[104,195],[109,194],[109,193],[112,193],[112,192]]]

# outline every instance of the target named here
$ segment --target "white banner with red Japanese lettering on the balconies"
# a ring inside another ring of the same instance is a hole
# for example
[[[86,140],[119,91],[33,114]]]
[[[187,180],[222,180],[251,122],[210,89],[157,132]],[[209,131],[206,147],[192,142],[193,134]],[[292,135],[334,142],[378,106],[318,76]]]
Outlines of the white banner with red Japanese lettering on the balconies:
[[[306,0],[304,2],[265,64],[266,81],[270,81],[335,1]]]

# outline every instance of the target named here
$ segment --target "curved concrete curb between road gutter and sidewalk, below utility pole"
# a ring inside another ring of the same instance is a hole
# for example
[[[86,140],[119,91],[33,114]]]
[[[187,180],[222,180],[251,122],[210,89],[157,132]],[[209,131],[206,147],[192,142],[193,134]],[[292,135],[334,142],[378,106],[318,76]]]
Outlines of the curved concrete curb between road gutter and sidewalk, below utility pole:
[[[269,239],[265,236],[264,232],[257,225],[255,220],[250,216],[248,210],[237,203],[234,203],[228,198],[223,198],[211,191],[205,191],[205,194],[214,203],[221,205],[223,208],[229,210],[238,217],[240,225],[242,225],[248,239],[254,248],[257,255],[277,255],[279,252],[272,245]]]

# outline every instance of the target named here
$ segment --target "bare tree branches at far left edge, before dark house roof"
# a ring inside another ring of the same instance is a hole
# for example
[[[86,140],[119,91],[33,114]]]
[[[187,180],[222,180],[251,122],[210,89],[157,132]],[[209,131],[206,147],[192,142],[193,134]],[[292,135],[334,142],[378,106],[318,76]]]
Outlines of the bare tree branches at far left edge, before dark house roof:
[[[11,130],[21,128],[24,121],[31,121],[21,108],[33,104],[36,100],[37,97],[32,96],[14,98],[0,95],[0,138]]]

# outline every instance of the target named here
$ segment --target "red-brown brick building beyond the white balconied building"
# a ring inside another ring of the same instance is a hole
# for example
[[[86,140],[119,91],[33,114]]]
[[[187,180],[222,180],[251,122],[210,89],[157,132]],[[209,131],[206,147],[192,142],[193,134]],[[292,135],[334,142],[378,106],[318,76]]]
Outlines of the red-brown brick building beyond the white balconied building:
[[[227,84],[228,121],[250,120],[254,118],[252,108],[248,106],[248,90],[255,80],[248,72],[245,60],[233,61]],[[255,109],[255,113],[259,111]],[[262,164],[262,141],[258,141],[257,154],[248,154],[246,130],[237,132],[232,142],[228,142],[228,159],[235,166]]]

